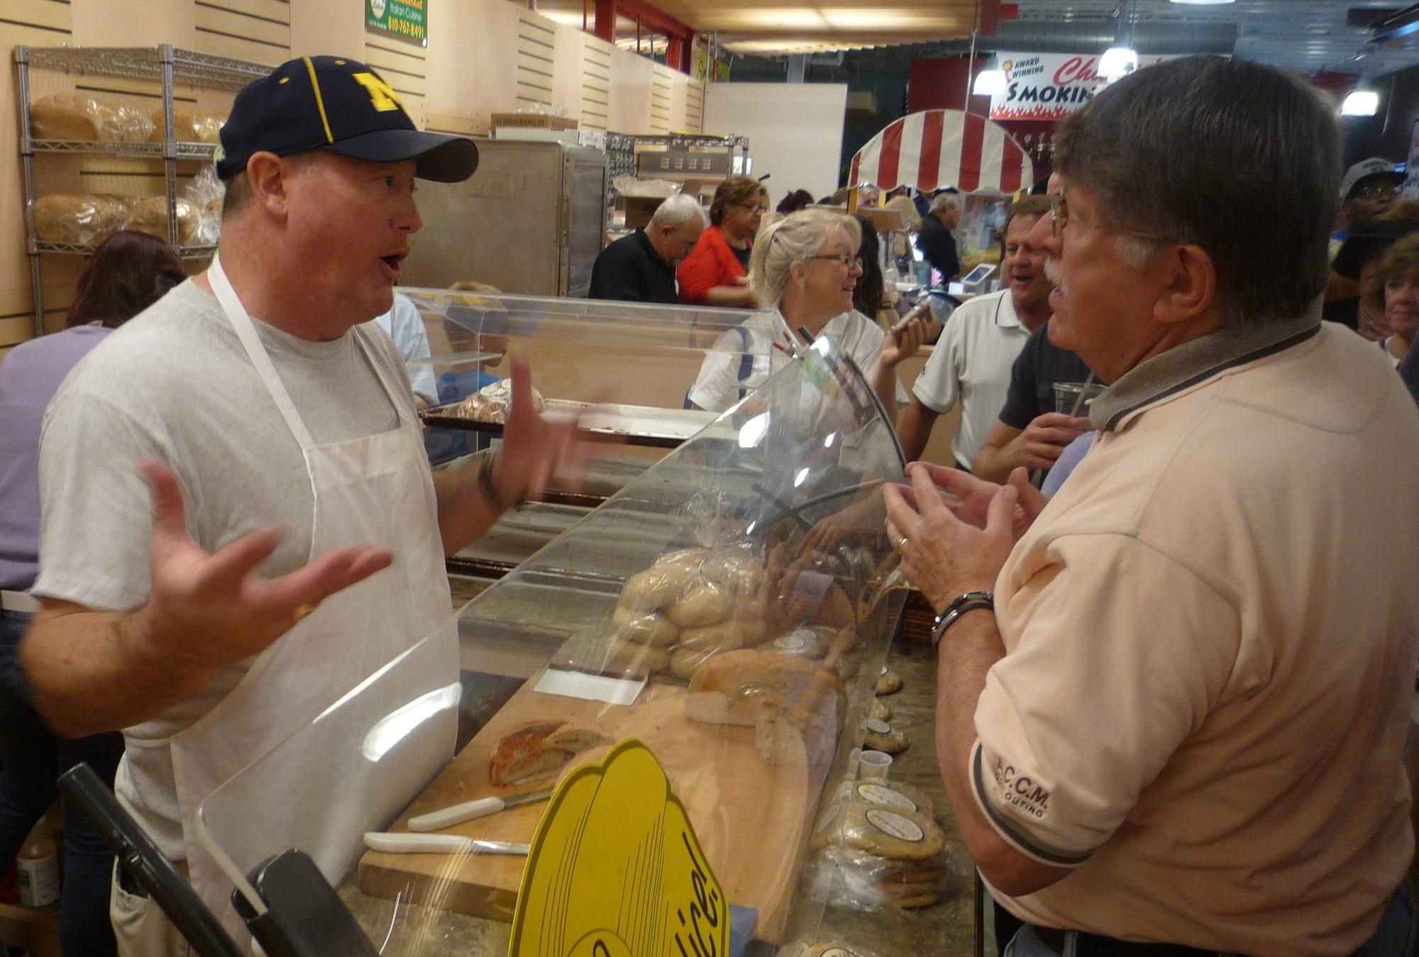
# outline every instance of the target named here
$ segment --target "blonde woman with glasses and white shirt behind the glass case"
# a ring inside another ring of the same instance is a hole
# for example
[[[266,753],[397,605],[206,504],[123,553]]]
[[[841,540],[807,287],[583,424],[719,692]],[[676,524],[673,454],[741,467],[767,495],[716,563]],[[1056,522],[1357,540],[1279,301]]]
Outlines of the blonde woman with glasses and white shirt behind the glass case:
[[[908,399],[897,363],[921,346],[925,324],[912,319],[894,335],[853,310],[860,243],[857,220],[836,210],[806,209],[765,226],[749,260],[749,288],[765,310],[715,342],[690,402],[722,412],[762,385],[793,348],[826,335],[853,358],[895,422],[897,403]]]

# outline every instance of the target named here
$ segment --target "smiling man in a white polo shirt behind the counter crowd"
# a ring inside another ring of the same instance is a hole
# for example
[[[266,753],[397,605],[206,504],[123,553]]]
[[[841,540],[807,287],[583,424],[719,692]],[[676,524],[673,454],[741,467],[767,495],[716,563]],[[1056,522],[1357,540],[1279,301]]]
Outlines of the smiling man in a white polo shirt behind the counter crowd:
[[[1044,196],[1010,206],[1000,234],[1005,288],[978,295],[955,312],[911,388],[898,433],[908,461],[921,457],[937,417],[961,400],[961,425],[951,443],[956,464],[969,470],[1010,388],[1010,366],[1030,332],[1050,319],[1044,250],[1030,244],[1030,230],[1050,212]]]

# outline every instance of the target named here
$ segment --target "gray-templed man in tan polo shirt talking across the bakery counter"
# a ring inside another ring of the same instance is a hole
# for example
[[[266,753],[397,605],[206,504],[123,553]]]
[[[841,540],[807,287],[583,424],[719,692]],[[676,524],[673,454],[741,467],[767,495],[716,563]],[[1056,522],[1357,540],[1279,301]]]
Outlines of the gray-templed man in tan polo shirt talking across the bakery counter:
[[[1047,503],[1023,470],[884,490],[941,612],[938,758],[1026,922],[1013,954],[1409,954],[1419,410],[1320,321],[1332,106],[1185,57],[1057,143],[1032,239],[1057,338],[1112,383],[1100,437]]]

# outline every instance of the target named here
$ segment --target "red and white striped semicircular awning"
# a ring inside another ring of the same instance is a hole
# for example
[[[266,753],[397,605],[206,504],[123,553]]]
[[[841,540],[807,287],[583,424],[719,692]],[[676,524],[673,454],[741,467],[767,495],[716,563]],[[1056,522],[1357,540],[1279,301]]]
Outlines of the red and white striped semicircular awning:
[[[858,183],[1015,193],[1034,185],[1034,163],[999,124],[959,109],[927,109],[890,124],[857,151],[850,185]]]

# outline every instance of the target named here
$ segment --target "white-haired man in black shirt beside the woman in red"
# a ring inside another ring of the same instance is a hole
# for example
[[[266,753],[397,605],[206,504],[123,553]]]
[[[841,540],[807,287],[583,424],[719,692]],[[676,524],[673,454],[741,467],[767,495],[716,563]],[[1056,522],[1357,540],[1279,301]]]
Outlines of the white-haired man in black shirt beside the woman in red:
[[[675,304],[675,267],[700,241],[707,224],[694,196],[677,193],[650,217],[644,229],[623,236],[592,264],[593,300]]]

